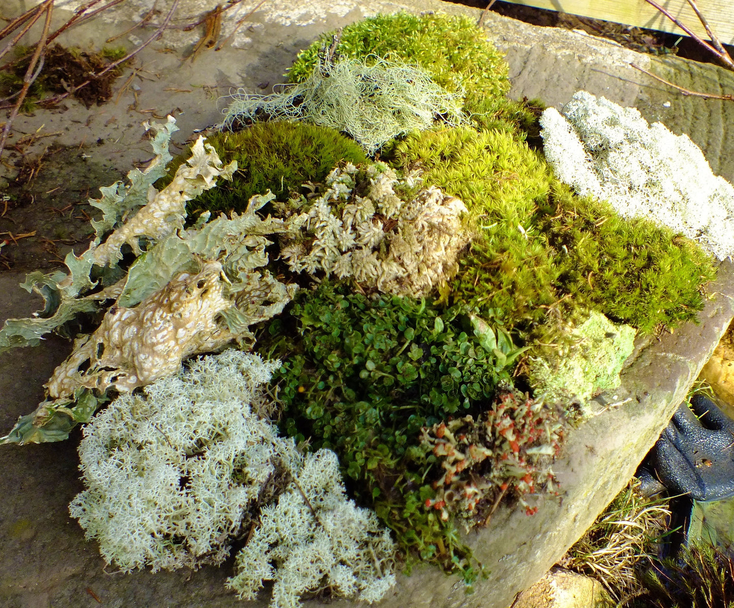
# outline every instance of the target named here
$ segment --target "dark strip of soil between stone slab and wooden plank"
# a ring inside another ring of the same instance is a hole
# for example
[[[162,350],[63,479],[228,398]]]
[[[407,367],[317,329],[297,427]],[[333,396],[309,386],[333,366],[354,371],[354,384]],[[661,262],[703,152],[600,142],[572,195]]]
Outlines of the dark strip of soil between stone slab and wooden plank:
[[[487,7],[485,0],[447,0],[454,4],[463,4],[467,7]],[[545,10],[534,7],[526,7],[521,4],[497,1],[490,9],[505,17],[531,23],[532,25],[544,27],[563,27],[566,29],[581,29],[592,36],[600,36],[614,40],[625,48],[630,48],[638,53],[651,53],[655,55],[676,54],[684,59],[692,59],[704,63],[719,64],[719,60],[711,53],[702,48],[690,37],[680,37],[677,34],[659,32],[657,29],[645,29],[642,27],[626,26],[613,21],[602,21],[589,17],[579,17],[566,12]],[[724,45],[730,54],[734,55],[734,46]]]

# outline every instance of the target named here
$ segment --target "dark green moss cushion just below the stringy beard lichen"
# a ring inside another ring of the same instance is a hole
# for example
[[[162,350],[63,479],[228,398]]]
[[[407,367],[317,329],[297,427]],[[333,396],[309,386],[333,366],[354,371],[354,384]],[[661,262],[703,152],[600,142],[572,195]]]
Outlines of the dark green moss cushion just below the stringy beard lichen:
[[[203,192],[188,203],[189,217],[195,211],[242,212],[252,196],[270,190],[285,202],[302,193],[302,184],[324,181],[338,164],[366,162],[357,143],[334,129],[304,123],[255,123],[236,133],[214,133],[206,140],[219,158],[237,161],[232,181]],[[168,175],[188,158],[189,151],[172,160]],[[156,184],[164,186],[170,177]]]

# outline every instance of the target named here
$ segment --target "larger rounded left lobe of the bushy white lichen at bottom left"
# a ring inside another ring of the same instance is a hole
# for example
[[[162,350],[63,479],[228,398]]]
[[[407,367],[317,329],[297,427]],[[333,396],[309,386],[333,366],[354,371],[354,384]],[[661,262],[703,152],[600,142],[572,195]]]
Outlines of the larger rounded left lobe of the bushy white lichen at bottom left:
[[[123,571],[219,564],[294,442],[258,417],[278,361],[226,350],[123,394],[84,427],[87,489],[70,504],[87,538]]]

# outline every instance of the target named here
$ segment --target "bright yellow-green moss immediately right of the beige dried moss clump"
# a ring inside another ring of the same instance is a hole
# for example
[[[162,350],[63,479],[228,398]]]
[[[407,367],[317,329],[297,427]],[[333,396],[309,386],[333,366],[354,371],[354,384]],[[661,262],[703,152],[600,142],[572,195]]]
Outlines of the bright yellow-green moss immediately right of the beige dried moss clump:
[[[460,262],[454,300],[508,327],[541,322],[543,307],[560,297],[552,252],[534,228],[551,191],[542,157],[506,131],[451,129],[411,134],[390,162],[420,167],[427,184],[463,200],[476,218],[479,236]]]

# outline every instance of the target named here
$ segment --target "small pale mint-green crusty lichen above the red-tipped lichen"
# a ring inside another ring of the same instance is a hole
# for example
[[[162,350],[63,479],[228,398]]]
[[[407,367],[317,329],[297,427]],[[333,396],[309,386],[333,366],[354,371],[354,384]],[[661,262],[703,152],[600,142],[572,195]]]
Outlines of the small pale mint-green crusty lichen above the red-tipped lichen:
[[[581,325],[566,328],[564,345],[531,356],[528,377],[545,402],[585,404],[601,391],[617,388],[619,372],[634,350],[636,330],[593,311]]]

